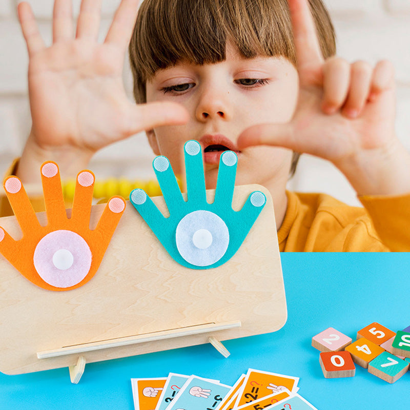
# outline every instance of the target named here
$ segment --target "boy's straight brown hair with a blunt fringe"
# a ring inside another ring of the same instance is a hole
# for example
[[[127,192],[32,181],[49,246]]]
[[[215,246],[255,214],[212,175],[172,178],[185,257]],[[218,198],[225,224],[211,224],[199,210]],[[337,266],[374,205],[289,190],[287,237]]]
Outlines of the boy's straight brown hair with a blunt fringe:
[[[324,58],[336,52],[322,0],[309,0]],[[178,61],[219,63],[231,42],[245,58],[284,56],[296,66],[288,0],[144,0],[129,46],[134,98],[146,103],[146,83]],[[296,169],[294,153],[291,175]]]

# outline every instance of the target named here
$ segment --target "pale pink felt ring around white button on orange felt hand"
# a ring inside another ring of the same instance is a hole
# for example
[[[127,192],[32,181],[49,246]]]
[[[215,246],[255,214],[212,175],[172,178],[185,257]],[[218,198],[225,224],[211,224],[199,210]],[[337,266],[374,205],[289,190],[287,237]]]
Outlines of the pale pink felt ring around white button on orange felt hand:
[[[57,251],[67,250],[73,255],[70,268],[55,267],[53,256]],[[72,231],[50,232],[41,239],[34,251],[34,267],[38,275],[56,288],[70,288],[83,280],[91,268],[92,254],[83,237]]]

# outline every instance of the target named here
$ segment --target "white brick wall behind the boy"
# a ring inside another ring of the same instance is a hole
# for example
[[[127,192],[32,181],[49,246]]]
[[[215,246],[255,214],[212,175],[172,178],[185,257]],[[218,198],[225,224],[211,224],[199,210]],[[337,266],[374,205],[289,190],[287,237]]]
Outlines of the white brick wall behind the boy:
[[[100,37],[104,38],[120,0],[103,0]],[[392,60],[398,84],[397,132],[410,150],[410,0],[324,0],[337,33],[338,54],[348,61],[365,59],[372,64]],[[40,32],[51,42],[53,0],[29,0]],[[27,99],[27,51],[16,16],[18,0],[0,0],[0,174],[24,146],[30,129]],[[73,0],[74,14],[80,0]],[[126,64],[126,90],[132,99],[132,80]],[[98,178],[153,175],[153,155],[144,134],[101,150],[90,168]],[[138,166],[136,166],[138,165]],[[354,191],[345,178],[326,161],[302,156],[289,188],[327,192],[356,204]]]

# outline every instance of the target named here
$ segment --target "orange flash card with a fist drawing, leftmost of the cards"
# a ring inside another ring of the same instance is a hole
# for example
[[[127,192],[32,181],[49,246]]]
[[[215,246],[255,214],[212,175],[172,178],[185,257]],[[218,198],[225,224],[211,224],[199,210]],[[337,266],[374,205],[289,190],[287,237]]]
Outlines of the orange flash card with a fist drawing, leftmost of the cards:
[[[166,381],[166,377],[131,379],[135,410],[152,410],[155,408]]]

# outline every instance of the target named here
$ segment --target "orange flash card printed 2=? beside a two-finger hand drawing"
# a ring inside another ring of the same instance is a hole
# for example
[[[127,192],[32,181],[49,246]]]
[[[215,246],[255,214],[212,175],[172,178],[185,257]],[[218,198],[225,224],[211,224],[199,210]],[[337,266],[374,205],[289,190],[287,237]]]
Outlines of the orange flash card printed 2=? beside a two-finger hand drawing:
[[[296,393],[295,389],[298,381],[298,377],[262,372],[250,368],[242,384],[238,398],[236,399],[235,407],[251,403],[252,401],[272,395],[273,393],[282,392],[285,389]]]

